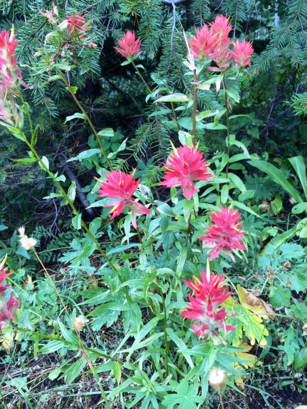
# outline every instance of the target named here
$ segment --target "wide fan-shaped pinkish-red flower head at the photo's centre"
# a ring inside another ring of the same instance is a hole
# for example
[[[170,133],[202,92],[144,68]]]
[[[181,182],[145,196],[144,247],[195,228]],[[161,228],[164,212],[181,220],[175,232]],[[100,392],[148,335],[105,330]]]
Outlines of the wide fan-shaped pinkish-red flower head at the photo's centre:
[[[190,200],[194,192],[199,192],[193,185],[194,180],[207,180],[211,177],[211,173],[207,173],[208,167],[205,165],[206,159],[203,158],[203,153],[198,151],[194,146],[189,148],[187,145],[180,148],[174,148],[170,154],[168,164],[164,164],[166,170],[160,183],[161,186],[171,188],[173,186],[181,186],[183,194]]]

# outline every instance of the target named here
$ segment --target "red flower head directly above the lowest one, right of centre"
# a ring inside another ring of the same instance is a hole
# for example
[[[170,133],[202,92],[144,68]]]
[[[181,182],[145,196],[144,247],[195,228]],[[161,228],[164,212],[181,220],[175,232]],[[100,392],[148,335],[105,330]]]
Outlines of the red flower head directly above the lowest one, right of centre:
[[[237,210],[221,207],[221,213],[211,213],[211,224],[206,232],[206,236],[200,237],[205,241],[205,246],[212,248],[209,252],[209,260],[213,260],[220,253],[229,255],[233,261],[235,258],[232,250],[246,250],[243,245],[242,236],[246,232],[239,231],[242,228],[242,221],[239,220],[241,213]],[[215,223],[215,224],[214,224]]]

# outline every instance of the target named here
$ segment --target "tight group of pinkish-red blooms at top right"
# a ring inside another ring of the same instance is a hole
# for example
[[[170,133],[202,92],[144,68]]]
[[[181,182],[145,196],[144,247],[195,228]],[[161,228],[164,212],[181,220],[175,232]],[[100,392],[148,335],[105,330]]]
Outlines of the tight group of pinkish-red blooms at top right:
[[[218,15],[209,26],[204,25],[200,30],[195,28],[196,35],[188,41],[195,59],[214,60],[221,70],[226,70],[230,63],[235,63],[239,68],[250,64],[250,56],[254,51],[251,42],[237,41],[233,43],[234,50],[229,48],[229,18]]]

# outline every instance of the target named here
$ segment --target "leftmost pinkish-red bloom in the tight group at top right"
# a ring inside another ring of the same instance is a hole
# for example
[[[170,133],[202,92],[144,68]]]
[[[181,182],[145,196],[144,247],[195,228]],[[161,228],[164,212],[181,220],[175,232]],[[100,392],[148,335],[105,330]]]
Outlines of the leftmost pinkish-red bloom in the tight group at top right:
[[[192,35],[188,41],[191,54],[197,60],[210,60],[210,55],[219,40],[218,37],[212,35],[206,24],[200,30],[195,28],[195,32],[196,36]]]

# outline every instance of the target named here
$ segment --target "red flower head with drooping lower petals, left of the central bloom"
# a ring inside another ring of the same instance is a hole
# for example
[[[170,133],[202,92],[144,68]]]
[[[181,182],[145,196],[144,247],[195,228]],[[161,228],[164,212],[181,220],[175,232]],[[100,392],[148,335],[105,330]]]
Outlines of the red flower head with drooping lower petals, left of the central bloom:
[[[113,213],[111,219],[119,216],[127,208],[131,211],[131,223],[137,228],[136,214],[149,214],[150,210],[141,203],[138,203],[132,195],[140,184],[140,179],[134,180],[133,175],[118,171],[112,171],[104,175],[106,181],[102,183],[98,192],[98,197],[112,197],[118,199],[112,203],[107,203],[103,207],[113,207],[108,214]]]

